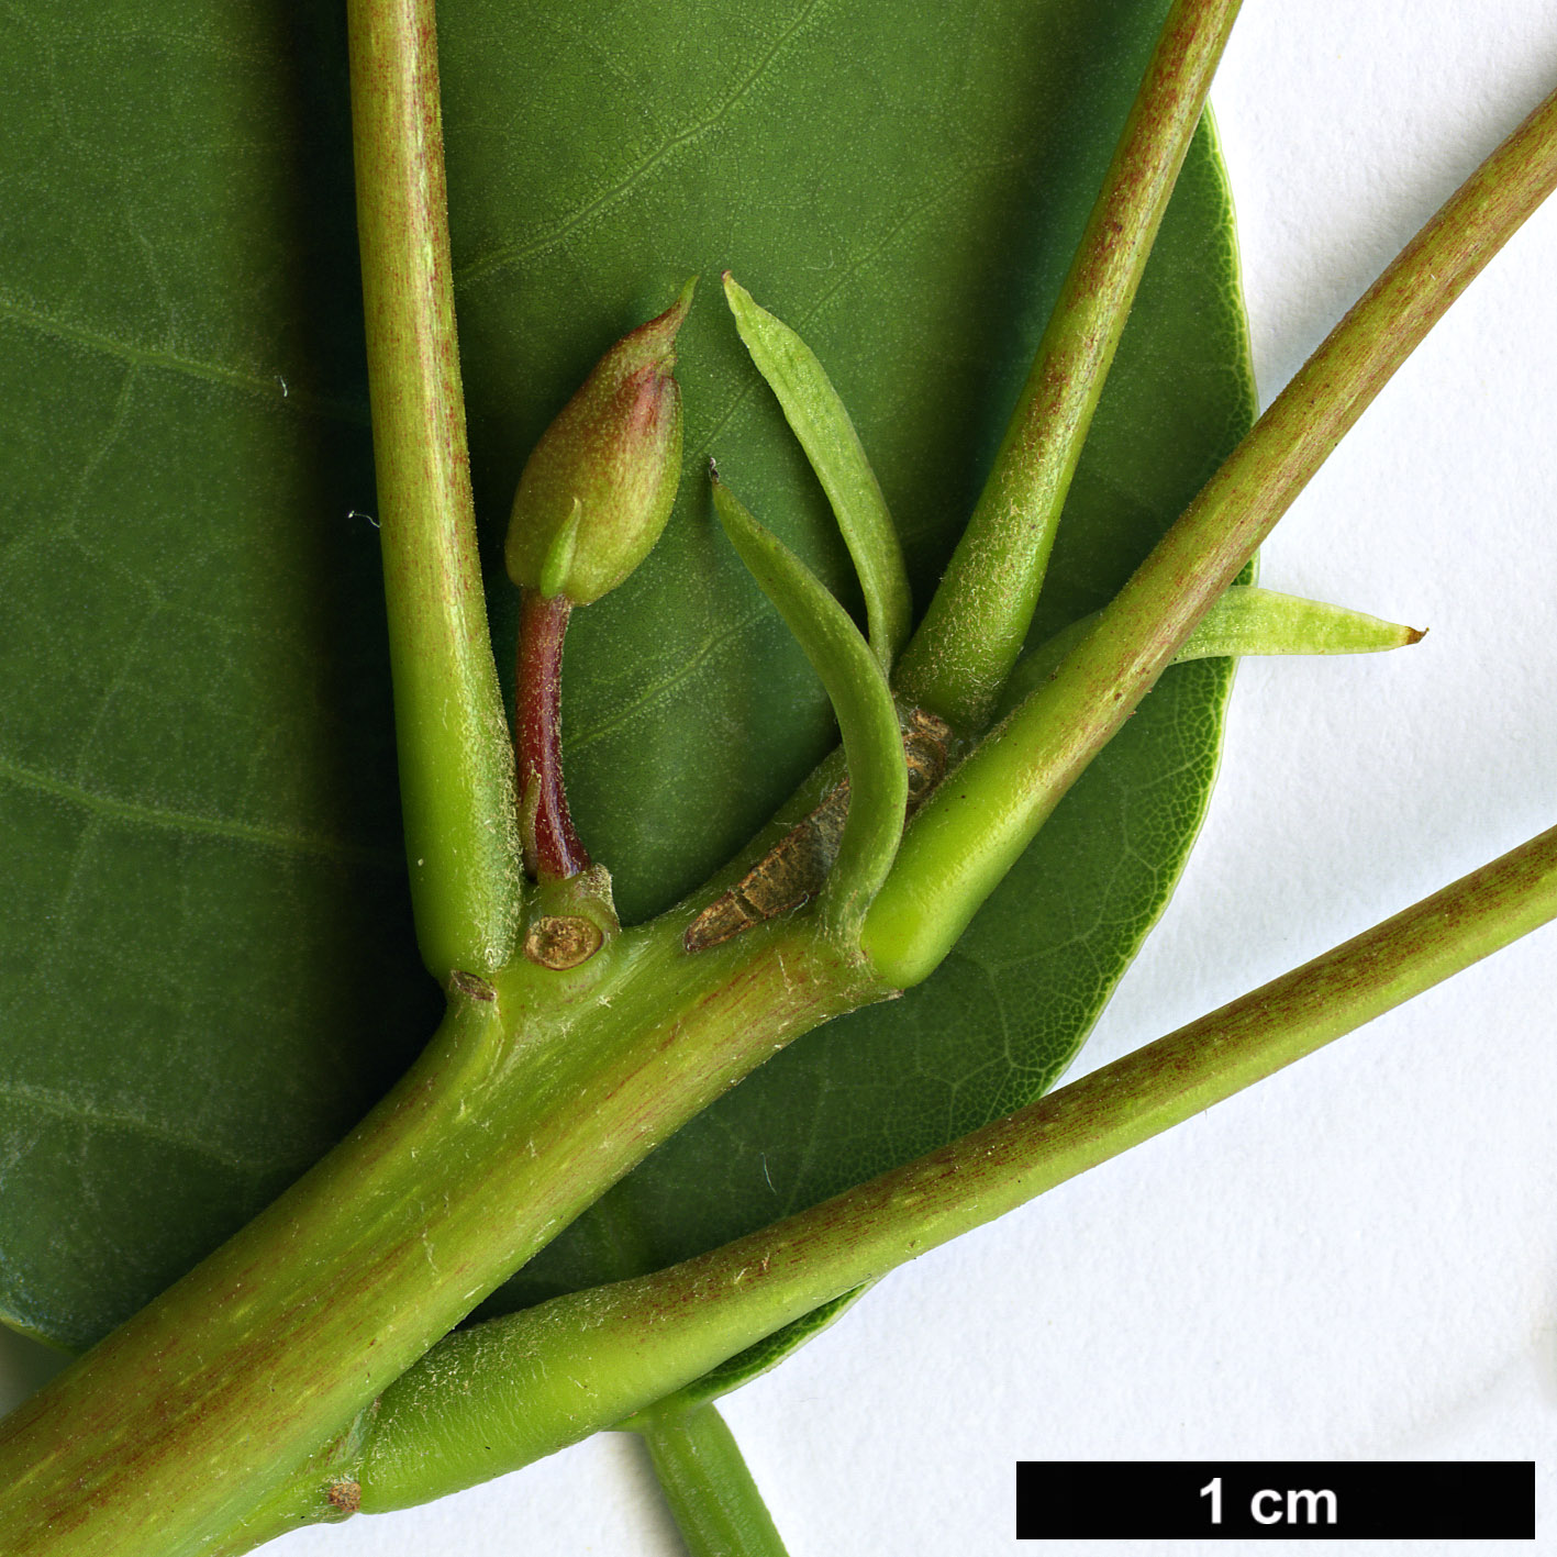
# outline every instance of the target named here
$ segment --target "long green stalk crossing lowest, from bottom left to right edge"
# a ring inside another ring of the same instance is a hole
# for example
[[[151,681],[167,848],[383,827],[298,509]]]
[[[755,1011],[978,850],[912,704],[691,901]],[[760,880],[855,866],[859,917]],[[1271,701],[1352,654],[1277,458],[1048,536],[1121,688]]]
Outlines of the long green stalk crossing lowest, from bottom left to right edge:
[[[458,1492],[624,1422],[937,1244],[1160,1135],[1557,919],[1557,828],[1342,947],[962,1140],[652,1275],[461,1330],[316,1457],[274,1531]],[[694,1404],[701,1403],[701,1397]],[[241,1551],[246,1548],[235,1548]]]

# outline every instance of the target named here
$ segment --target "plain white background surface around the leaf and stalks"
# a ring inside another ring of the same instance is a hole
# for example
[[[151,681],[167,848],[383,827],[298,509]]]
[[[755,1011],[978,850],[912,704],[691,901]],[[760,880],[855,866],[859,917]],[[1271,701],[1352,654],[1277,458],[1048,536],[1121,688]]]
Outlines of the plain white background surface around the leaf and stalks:
[[[1549,0],[1247,8],[1213,103],[1264,400],[1552,86]],[[1266,584],[1429,637],[1244,665],[1210,822],[1087,1067],[1557,822],[1554,395],[1557,209],[1264,551]],[[895,1274],[726,1403],[793,1557],[1031,1549],[1012,1540],[1017,1459],[1537,1459],[1552,1540],[1554,1004],[1545,931]],[[0,1404],[39,1376],[6,1337]],[[604,1436],[277,1551],[679,1546],[635,1445]]]

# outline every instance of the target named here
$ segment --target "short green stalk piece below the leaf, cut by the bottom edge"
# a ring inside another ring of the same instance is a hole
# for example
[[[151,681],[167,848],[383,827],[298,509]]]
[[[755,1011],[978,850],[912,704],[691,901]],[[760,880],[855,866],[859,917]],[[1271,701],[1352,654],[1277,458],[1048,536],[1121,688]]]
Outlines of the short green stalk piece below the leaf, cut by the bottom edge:
[[[741,1446],[713,1406],[646,1411],[629,1425],[648,1446],[690,1557],[786,1557]]]

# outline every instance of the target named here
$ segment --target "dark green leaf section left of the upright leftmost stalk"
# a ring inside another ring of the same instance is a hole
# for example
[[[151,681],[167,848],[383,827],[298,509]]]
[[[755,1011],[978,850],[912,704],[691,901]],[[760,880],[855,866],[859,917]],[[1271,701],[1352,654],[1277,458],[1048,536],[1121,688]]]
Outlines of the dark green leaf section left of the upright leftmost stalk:
[[[339,26],[45,0],[0,72],[0,1317],[83,1347],[336,1140],[438,996]]]

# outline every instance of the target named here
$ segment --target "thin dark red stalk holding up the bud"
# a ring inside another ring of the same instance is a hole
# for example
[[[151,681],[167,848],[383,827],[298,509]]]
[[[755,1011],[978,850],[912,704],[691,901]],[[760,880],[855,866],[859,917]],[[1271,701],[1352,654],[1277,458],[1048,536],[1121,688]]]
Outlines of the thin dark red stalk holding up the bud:
[[[589,870],[562,785],[562,638],[571,601],[526,589],[518,618],[514,750],[518,758],[518,824],[525,869],[539,881]]]

